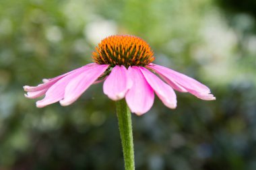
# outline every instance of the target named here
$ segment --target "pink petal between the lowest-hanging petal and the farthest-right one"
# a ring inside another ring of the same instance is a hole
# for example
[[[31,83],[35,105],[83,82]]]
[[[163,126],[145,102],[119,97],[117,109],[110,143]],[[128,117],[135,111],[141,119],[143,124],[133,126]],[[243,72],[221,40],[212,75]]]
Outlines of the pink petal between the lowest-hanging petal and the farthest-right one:
[[[168,108],[174,109],[177,107],[177,98],[172,87],[164,83],[160,78],[158,78],[154,73],[148,71],[143,67],[139,67],[141,73],[144,75],[148,84],[154,89],[156,95],[161,99],[161,101]]]

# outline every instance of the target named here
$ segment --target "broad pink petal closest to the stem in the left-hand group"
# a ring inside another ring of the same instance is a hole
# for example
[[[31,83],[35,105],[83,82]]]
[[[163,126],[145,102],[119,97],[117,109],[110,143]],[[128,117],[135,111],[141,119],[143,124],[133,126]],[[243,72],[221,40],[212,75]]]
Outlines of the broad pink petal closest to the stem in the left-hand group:
[[[96,65],[95,67],[88,67],[83,73],[77,75],[65,87],[64,99],[60,101],[61,105],[73,103],[106,69],[108,69],[108,65]]]

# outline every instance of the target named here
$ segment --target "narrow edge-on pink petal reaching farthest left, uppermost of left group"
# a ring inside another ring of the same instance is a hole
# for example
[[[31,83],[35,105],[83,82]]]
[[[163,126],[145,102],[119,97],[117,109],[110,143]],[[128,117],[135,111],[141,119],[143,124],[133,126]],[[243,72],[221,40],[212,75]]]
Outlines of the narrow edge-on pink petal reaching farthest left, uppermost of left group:
[[[94,67],[96,64],[95,63],[90,63],[88,65],[85,65],[83,67],[80,67],[78,69],[75,69],[73,71],[69,71],[68,73],[65,73],[63,75],[59,75],[57,77],[54,77],[54,78],[51,78],[51,79],[43,79],[42,80],[42,84],[38,85],[38,86],[28,86],[28,85],[25,85],[23,88],[24,88],[24,91],[28,91],[28,92],[34,92],[34,91],[41,91],[43,89],[49,89],[53,84],[55,84],[57,81],[59,81],[59,79],[71,74],[71,73],[75,73],[77,71],[80,71],[80,70],[83,70],[83,69],[86,69],[88,67]]]

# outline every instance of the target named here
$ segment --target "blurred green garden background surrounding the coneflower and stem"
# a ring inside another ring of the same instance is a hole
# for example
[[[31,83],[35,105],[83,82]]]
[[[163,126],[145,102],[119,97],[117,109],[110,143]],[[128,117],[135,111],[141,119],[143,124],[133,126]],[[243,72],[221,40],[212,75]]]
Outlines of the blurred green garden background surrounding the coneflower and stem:
[[[115,103],[93,85],[75,103],[36,108],[38,85],[92,62],[100,40],[133,34],[155,63],[212,89],[216,101],[177,93],[133,114],[135,164],[150,170],[256,169],[254,0],[1,0],[0,169],[123,169]]]

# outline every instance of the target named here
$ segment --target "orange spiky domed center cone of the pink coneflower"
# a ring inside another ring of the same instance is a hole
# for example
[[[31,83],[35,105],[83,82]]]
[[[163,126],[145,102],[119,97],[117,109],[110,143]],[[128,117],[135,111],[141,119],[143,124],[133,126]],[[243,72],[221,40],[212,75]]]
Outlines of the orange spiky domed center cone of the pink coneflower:
[[[129,35],[109,36],[102,40],[92,53],[94,62],[100,65],[145,66],[155,58],[148,43]]]

